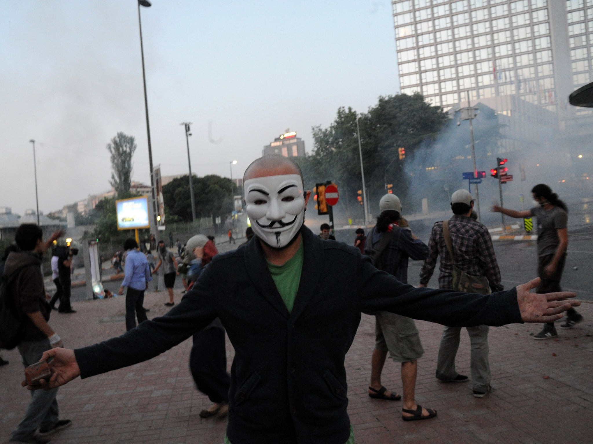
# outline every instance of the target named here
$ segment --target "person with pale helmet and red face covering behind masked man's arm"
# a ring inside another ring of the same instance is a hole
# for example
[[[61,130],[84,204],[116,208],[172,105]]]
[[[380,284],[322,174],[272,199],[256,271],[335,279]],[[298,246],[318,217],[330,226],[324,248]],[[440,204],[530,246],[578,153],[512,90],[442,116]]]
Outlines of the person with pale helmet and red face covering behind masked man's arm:
[[[187,259],[190,259],[188,278],[195,282],[208,267],[218,250],[203,234],[187,241]],[[200,411],[200,417],[225,417],[228,413],[228,390],[231,377],[227,373],[227,348],[225,329],[219,318],[200,332],[193,334],[193,347],[189,367],[197,390],[208,395],[212,406]]]

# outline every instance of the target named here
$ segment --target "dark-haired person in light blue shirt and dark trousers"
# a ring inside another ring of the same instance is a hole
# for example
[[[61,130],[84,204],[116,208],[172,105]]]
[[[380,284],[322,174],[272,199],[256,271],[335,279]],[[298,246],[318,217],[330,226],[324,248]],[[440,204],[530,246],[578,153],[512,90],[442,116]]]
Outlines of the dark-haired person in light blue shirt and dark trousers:
[[[129,332],[136,327],[136,318],[138,318],[138,324],[148,319],[143,306],[144,291],[146,282],[152,281],[152,276],[148,260],[146,260],[144,253],[140,252],[138,243],[134,239],[126,239],[123,249],[127,252],[126,276],[119,288],[119,294],[122,295],[123,287],[127,287],[126,330]]]

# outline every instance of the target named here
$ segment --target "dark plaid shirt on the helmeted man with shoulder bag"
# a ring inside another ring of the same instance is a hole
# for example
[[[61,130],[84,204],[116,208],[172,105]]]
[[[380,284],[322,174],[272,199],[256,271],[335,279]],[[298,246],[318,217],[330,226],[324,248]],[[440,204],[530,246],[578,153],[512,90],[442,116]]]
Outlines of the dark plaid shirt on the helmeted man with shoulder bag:
[[[492,238],[486,226],[471,217],[454,215],[449,219],[449,234],[455,265],[467,274],[486,276],[492,292],[502,291],[500,270],[496,262]],[[442,221],[435,223],[432,227],[428,249],[428,258],[420,270],[420,284],[428,284],[435,270],[436,257],[441,255],[439,288],[452,288],[453,265],[445,245]]]

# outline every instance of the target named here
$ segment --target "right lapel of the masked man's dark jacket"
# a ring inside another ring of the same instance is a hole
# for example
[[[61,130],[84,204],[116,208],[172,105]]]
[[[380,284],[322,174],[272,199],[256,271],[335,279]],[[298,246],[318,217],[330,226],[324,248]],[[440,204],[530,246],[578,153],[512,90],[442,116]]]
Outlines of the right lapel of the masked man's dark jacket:
[[[297,298],[292,307],[291,318],[294,322],[307,307],[313,297],[317,282],[323,273],[323,241],[315,236],[313,231],[303,226],[301,229],[305,257],[302,263],[301,281],[299,282]],[[336,242],[336,241],[327,241]]]

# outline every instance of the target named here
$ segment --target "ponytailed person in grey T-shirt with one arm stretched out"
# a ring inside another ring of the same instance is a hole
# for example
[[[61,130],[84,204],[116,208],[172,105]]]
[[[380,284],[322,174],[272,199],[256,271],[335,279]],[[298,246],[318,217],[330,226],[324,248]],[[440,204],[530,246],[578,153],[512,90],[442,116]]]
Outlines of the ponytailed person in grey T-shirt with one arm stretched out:
[[[546,184],[535,185],[531,189],[531,194],[537,203],[537,206],[531,210],[515,211],[495,205],[492,211],[515,218],[532,216],[537,218],[537,274],[540,276],[541,284],[535,292],[562,291],[560,279],[562,279],[568,248],[568,208]],[[566,312],[566,321],[560,328],[572,329],[582,320],[582,314],[570,308]],[[543,330],[535,334],[533,339],[541,340],[557,336],[554,323],[549,322],[544,324]]]

